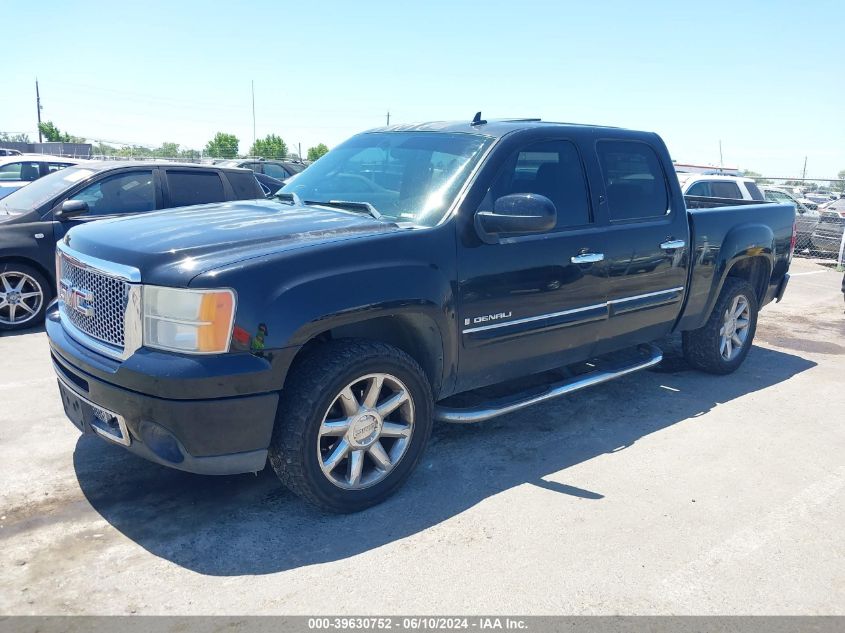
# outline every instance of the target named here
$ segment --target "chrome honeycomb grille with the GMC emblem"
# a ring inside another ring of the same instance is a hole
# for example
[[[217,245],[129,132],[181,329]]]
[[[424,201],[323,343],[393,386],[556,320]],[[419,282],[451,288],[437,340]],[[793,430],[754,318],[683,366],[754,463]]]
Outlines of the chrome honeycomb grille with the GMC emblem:
[[[60,261],[62,316],[82,333],[122,350],[130,284],[64,255]]]

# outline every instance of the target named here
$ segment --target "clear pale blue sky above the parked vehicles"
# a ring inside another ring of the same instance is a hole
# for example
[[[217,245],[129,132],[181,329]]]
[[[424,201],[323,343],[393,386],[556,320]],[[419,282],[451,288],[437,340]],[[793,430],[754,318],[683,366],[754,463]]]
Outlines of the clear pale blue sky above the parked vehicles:
[[[653,130],[679,162],[845,169],[845,0],[5,2],[0,131],[330,147],[391,122]]]

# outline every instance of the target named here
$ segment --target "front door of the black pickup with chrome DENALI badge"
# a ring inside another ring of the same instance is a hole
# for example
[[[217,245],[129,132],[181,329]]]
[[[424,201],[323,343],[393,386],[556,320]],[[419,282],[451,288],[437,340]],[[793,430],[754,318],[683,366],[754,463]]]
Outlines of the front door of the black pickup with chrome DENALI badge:
[[[604,263],[590,256],[601,252],[601,227],[576,145],[528,142],[507,155],[479,209],[512,193],[541,194],[554,202],[557,225],[497,244],[463,236],[459,391],[589,357],[608,314]]]

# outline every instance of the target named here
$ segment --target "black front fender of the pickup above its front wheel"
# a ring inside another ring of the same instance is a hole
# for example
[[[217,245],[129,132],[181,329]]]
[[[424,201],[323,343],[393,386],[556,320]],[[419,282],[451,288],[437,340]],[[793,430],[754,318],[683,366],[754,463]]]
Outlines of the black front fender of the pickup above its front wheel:
[[[437,348],[433,386],[448,390],[457,372],[455,276],[455,229],[446,223],[256,258],[191,285],[238,289],[233,351],[272,356],[281,383],[295,352],[315,337],[398,317]]]

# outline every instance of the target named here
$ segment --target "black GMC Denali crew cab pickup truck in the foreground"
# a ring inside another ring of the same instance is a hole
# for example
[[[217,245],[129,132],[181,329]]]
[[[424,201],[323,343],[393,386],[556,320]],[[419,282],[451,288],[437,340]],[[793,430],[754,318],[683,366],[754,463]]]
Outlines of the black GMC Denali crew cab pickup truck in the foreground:
[[[274,200],[73,229],[47,333],[83,432],[196,473],[269,458],[356,511],[407,479],[434,420],[653,366],[671,332],[694,367],[734,371],[783,295],[794,222],[791,205],[688,210],[651,133],[395,126]]]

